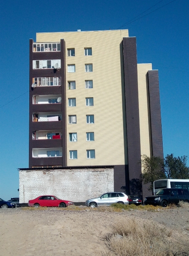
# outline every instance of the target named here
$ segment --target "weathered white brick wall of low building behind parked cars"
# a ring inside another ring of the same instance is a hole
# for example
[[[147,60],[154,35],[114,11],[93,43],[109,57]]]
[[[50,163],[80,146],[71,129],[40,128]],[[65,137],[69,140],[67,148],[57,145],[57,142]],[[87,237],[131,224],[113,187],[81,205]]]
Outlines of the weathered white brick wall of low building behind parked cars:
[[[113,168],[19,171],[20,203],[40,195],[84,202],[110,191],[114,191]]]

